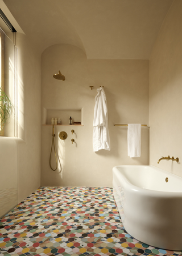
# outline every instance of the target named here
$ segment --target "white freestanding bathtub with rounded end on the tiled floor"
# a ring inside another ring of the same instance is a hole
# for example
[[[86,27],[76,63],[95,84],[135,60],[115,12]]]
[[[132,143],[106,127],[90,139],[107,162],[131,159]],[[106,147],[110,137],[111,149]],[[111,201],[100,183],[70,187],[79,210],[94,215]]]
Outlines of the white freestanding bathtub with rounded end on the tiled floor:
[[[113,194],[127,233],[182,250],[182,178],[154,166],[115,166]]]

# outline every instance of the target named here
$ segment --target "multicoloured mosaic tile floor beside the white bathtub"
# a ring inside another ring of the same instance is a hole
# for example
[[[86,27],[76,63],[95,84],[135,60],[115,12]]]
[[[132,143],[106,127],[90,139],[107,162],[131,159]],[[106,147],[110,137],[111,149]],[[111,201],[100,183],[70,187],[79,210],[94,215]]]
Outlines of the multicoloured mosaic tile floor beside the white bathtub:
[[[110,187],[40,187],[0,222],[0,255],[182,255],[123,228]]]

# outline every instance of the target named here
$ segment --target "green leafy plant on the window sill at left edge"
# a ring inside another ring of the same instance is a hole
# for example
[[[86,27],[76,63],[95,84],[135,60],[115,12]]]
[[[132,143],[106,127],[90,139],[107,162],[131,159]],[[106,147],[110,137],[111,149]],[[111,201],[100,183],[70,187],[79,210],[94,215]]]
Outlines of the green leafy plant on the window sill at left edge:
[[[9,97],[0,87],[0,127],[1,131],[5,127],[6,121],[10,118],[11,108],[14,108]]]

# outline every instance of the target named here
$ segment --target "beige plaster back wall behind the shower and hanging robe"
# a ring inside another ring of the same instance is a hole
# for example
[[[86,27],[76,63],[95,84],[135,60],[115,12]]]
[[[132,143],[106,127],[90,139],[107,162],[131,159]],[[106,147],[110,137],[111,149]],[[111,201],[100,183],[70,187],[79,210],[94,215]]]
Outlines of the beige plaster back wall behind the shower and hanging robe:
[[[49,110],[70,110],[74,119],[73,110],[82,109],[84,126],[55,127],[61,172],[60,166],[56,171],[49,167],[52,126],[42,126],[42,186],[112,186],[114,166],[148,165],[149,130],[142,127],[141,157],[130,158],[127,156],[127,127],[114,126],[115,123],[148,125],[148,69],[146,60],[88,60],[81,49],[72,45],[53,45],[43,52],[42,124]],[[59,70],[65,75],[65,81],[52,77]],[[89,86],[94,89],[90,90]],[[107,97],[111,150],[94,153],[93,110],[99,86],[104,86]],[[61,118],[56,115],[57,111],[53,118]],[[81,121],[81,114],[80,120],[75,121]],[[73,135],[72,129],[75,130]],[[60,131],[68,133],[65,141],[59,139]],[[72,138],[75,139],[73,145]]]

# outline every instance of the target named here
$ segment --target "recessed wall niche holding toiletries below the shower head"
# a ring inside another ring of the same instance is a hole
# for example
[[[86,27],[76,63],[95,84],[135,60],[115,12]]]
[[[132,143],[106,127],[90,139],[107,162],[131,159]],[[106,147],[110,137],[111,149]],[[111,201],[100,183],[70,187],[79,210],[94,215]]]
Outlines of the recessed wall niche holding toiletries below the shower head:
[[[43,107],[43,126],[51,126],[52,118],[60,118],[61,125],[55,126],[84,126],[83,122],[84,109],[46,109]],[[81,125],[69,125],[69,117],[72,117],[73,122],[81,122]]]

